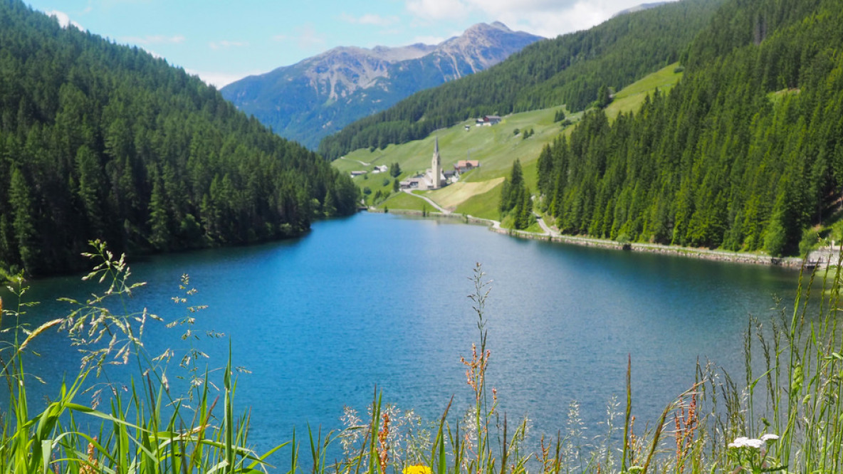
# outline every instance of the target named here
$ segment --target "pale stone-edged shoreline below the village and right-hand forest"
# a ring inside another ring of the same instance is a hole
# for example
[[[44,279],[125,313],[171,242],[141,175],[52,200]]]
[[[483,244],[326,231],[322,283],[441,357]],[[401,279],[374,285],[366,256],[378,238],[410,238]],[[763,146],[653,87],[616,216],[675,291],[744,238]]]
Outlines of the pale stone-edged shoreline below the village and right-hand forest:
[[[740,252],[733,252],[729,250],[709,250],[709,249],[700,249],[700,248],[693,248],[693,247],[679,247],[676,245],[661,245],[661,244],[642,244],[642,243],[621,243],[616,240],[608,240],[608,239],[595,239],[593,237],[578,237],[575,235],[551,235],[547,233],[538,233],[538,232],[527,232],[524,230],[515,230],[515,229],[503,229],[496,224],[497,221],[486,219],[486,218],[476,218],[474,216],[465,215],[465,214],[444,214],[444,213],[432,213],[432,212],[421,212],[415,211],[410,209],[389,209],[384,211],[383,209],[368,209],[369,213],[394,213],[406,216],[415,216],[415,217],[423,217],[423,218],[447,218],[449,220],[463,222],[464,224],[474,224],[474,225],[485,225],[497,234],[505,234],[510,235],[512,237],[517,237],[519,239],[531,239],[531,240],[544,240],[547,242],[553,243],[560,243],[560,244],[571,244],[571,245],[583,245],[587,247],[601,247],[604,249],[612,249],[612,250],[625,250],[625,251],[643,251],[649,253],[658,253],[664,255],[673,255],[673,256],[685,256],[689,258],[697,258],[701,260],[711,260],[711,261],[727,261],[732,263],[749,263],[752,265],[766,265],[771,267],[785,267],[785,268],[792,268],[792,269],[799,269],[803,266],[804,259],[795,256],[786,256],[786,257],[773,257],[769,255],[761,255],[761,254],[748,254],[748,253],[740,253]]]

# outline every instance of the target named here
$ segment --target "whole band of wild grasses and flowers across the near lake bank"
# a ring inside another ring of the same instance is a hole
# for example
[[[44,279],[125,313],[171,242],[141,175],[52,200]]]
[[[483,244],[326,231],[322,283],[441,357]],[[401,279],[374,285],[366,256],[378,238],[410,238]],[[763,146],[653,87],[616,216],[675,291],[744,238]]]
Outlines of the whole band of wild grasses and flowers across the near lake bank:
[[[87,301],[67,300],[74,308],[67,317],[28,328],[25,316],[31,304],[22,303],[25,288],[20,287],[15,291],[18,304],[0,310],[0,324],[9,333],[0,348],[9,400],[0,433],[2,472],[253,472],[278,469],[267,462],[278,450],[290,461],[280,469],[291,474],[843,469],[839,270],[800,279],[805,284],[792,311],[781,306],[769,324],[749,319],[743,377],[722,373],[714,364],[690,368],[695,384],[675,394],[658,420],[642,423],[636,421],[631,393],[631,356],[626,361],[626,403],[609,403],[599,436],[585,436],[573,403],[566,427],[555,436],[536,437],[529,434],[527,420],[512,421],[499,412],[497,391],[486,380],[493,360],[486,344],[490,287],[478,265],[470,295],[477,339],[461,358],[473,393],[470,407],[453,407],[452,398],[442,417],[426,424],[382,401],[376,392],[365,414],[346,411],[346,428],[324,435],[309,429],[303,442],[293,434],[289,443],[259,455],[249,447],[248,416],[234,414],[232,364],[223,370],[220,395],[214,393],[208,369],[198,364],[201,353],[196,350],[189,349],[184,357],[171,350],[157,357],[147,353],[144,326],[160,324],[160,318],[147,310],[120,315],[109,309],[121,307],[121,299],[140,283],[131,283],[124,259],[115,259],[104,245],[95,243],[88,256],[98,264],[86,278],[99,280],[105,290]],[[202,309],[192,303],[194,294],[185,275],[174,299],[185,308],[185,316],[167,326],[192,334]],[[33,382],[24,364],[27,347],[55,327],[83,348],[83,367],[54,401],[33,413],[26,396]],[[102,381],[100,374],[126,370],[132,360],[142,376],[126,394],[113,391],[109,396],[111,388],[105,385],[92,402],[79,401],[89,386],[101,386],[92,383]],[[186,381],[181,396],[175,395],[178,384],[170,381],[174,371]]]

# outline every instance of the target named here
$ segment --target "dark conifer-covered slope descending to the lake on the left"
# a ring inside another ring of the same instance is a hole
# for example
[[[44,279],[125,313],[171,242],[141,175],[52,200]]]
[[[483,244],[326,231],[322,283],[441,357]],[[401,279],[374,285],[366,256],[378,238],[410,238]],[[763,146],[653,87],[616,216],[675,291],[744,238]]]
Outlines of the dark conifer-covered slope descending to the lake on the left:
[[[87,265],[103,239],[178,250],[300,234],[356,188],[137,48],[0,3],[0,268]]]

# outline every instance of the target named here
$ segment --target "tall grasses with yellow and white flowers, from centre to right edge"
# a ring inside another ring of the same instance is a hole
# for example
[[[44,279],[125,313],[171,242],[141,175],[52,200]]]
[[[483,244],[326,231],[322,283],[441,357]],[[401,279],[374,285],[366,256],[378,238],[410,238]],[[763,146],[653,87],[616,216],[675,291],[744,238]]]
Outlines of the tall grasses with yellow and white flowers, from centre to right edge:
[[[770,322],[749,318],[743,383],[738,384],[732,374],[711,362],[700,363],[695,368],[695,383],[677,394],[657,420],[644,429],[636,428],[631,356],[627,360],[626,404],[619,410],[615,401],[609,402],[604,434],[588,439],[579,420],[579,407],[572,402],[568,426],[555,437],[541,435],[537,443],[526,435],[526,419],[515,428],[507,423],[506,414],[498,412],[497,391],[488,388],[491,349],[486,347],[485,308],[489,283],[484,277],[478,265],[470,295],[478,339],[471,345],[470,357],[461,359],[474,395],[467,416],[452,416],[454,407],[448,403],[432,429],[432,443],[415,443],[426,447],[426,457],[384,462],[400,446],[384,444],[379,438],[388,429],[389,417],[382,416],[381,400],[376,396],[368,409],[368,423],[357,420],[346,428],[353,430],[346,433],[368,440],[368,448],[353,451],[354,455],[345,450],[344,459],[330,464],[314,458],[313,472],[843,471],[839,270],[825,273],[821,282],[815,274],[803,277],[800,273],[799,281],[808,281],[797,288],[792,312],[782,309],[780,300]],[[618,427],[615,420],[621,417],[623,426]],[[330,439],[325,439],[327,444]]]

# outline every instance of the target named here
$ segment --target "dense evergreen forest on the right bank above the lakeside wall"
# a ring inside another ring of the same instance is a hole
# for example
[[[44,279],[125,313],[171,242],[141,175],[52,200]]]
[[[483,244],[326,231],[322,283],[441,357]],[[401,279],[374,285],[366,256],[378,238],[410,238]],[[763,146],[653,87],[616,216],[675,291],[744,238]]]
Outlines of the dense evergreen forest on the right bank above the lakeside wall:
[[[538,187],[556,224],[796,253],[804,229],[839,211],[843,191],[840,24],[831,0],[724,5],[669,94],[613,124],[588,113],[541,152]]]

